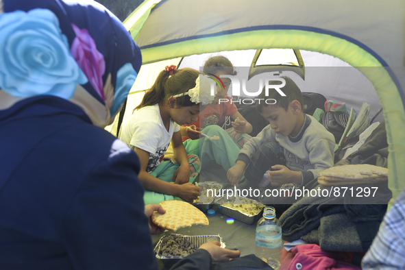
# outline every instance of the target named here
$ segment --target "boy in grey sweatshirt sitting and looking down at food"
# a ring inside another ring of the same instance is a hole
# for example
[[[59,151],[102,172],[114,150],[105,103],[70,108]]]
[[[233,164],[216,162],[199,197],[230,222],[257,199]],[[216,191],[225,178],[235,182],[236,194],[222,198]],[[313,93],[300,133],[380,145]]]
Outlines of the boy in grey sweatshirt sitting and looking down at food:
[[[319,171],[333,166],[334,136],[312,116],[304,114],[301,90],[289,77],[282,78],[286,85],[280,89],[285,97],[276,90],[270,90],[266,96],[265,89],[259,95],[261,99],[276,101],[273,105],[257,105],[270,124],[239,152],[236,165],[227,173],[231,184],[238,184],[245,171],[249,186],[302,186],[315,179]]]

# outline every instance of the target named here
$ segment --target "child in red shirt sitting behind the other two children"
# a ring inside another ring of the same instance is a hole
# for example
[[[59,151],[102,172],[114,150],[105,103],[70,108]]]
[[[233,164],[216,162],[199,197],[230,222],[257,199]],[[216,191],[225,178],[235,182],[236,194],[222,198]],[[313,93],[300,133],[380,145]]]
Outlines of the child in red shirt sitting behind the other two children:
[[[205,75],[213,74],[217,77],[220,75],[236,75],[234,66],[232,62],[228,60],[225,56],[213,56],[209,58],[204,64],[203,73]],[[227,116],[230,116],[232,127],[227,130],[228,134],[232,137],[234,142],[241,149],[243,144],[251,138],[247,135],[252,130],[253,127],[246,119],[238,112],[238,108],[234,103],[229,102],[231,97],[226,95],[228,93],[228,88],[230,87],[231,80],[229,78],[221,78],[225,88],[217,88],[217,95],[204,110],[199,113],[197,121],[193,122],[191,125],[193,130],[203,130],[208,125],[219,125],[223,127]],[[219,99],[228,99],[228,102],[219,103]],[[181,127],[183,140],[191,138],[193,140],[199,138],[199,132],[193,132],[193,130],[186,129],[186,127]],[[243,135],[242,135],[243,134]]]

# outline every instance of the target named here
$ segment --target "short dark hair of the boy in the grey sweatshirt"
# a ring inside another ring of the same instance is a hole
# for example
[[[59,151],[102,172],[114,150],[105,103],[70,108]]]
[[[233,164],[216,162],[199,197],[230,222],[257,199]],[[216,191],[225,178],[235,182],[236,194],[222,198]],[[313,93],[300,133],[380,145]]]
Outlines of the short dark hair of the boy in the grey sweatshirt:
[[[280,95],[277,90],[271,89],[269,90],[269,95],[266,95],[265,88],[263,88],[262,93],[258,96],[258,99],[275,99],[275,104],[270,105],[265,102],[258,102],[256,103],[256,108],[258,112],[262,112],[263,107],[265,106],[279,106],[284,108],[284,110],[287,110],[289,108],[289,104],[293,100],[297,100],[299,104],[301,104],[301,107],[303,105],[303,99],[302,99],[302,93],[301,90],[299,90],[297,84],[290,78],[286,76],[282,76],[286,81],[286,85],[280,88],[282,92],[286,95],[285,97]],[[280,84],[280,81],[269,81],[269,85],[277,85]]]

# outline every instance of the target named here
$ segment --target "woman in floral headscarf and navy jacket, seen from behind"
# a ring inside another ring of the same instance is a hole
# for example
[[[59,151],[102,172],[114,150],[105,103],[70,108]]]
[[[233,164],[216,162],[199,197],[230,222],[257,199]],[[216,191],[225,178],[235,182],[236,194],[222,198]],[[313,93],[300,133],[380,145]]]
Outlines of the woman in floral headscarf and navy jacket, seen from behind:
[[[0,269],[157,268],[134,151],[103,130],[138,47],[93,1],[0,1]]]

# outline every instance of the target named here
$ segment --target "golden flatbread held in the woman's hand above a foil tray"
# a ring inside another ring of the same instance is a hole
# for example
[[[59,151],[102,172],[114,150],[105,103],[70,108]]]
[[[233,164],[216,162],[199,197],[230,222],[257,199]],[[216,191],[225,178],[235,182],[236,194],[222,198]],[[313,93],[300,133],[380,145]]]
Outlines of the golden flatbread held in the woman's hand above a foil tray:
[[[160,228],[175,232],[191,225],[209,224],[206,215],[186,201],[162,201],[160,205],[166,212],[164,214],[154,212],[151,216],[152,222]]]

